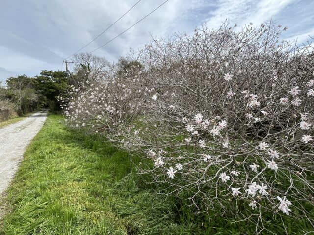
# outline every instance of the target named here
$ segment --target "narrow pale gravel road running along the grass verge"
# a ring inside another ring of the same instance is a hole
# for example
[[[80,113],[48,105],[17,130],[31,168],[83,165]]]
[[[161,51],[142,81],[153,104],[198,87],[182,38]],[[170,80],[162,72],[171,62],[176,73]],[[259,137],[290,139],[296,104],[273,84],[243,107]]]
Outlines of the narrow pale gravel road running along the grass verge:
[[[29,142],[42,128],[47,111],[0,128],[0,195],[13,179]]]

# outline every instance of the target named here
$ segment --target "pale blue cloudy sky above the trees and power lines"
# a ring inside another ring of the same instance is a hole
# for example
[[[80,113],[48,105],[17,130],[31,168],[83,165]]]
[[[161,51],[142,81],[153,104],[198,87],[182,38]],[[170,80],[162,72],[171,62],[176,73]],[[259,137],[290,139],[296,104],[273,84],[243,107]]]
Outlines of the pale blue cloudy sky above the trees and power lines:
[[[97,37],[138,0],[3,0],[0,8],[0,81],[10,76],[64,70],[62,60]],[[105,44],[165,0],[141,0],[120,21],[81,52]],[[282,39],[298,44],[314,36],[314,0],[169,0],[129,31],[95,51],[110,62],[140,48],[151,35],[192,34],[207,24],[218,28],[226,19],[259,26],[272,18],[287,26]],[[70,67],[70,70],[72,67]]]

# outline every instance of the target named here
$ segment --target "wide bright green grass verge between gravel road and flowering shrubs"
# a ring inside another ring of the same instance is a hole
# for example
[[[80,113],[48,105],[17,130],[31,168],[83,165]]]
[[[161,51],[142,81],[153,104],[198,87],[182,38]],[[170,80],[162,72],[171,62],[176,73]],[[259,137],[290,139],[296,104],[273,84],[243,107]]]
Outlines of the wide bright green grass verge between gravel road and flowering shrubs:
[[[50,115],[2,201],[2,235],[180,234],[170,202],[141,188],[126,152]],[[136,163],[139,160],[133,159]],[[2,205],[3,206],[3,205]]]

